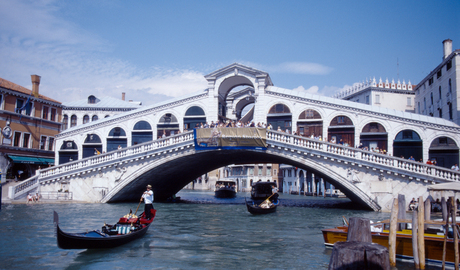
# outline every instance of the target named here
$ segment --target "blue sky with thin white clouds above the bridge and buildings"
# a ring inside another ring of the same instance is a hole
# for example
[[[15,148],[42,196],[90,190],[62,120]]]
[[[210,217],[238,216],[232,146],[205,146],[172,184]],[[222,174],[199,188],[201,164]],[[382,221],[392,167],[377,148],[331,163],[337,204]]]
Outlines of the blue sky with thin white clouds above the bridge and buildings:
[[[460,1],[0,0],[0,77],[61,102],[144,105],[206,88],[238,62],[331,96],[380,77],[417,84],[460,48]]]

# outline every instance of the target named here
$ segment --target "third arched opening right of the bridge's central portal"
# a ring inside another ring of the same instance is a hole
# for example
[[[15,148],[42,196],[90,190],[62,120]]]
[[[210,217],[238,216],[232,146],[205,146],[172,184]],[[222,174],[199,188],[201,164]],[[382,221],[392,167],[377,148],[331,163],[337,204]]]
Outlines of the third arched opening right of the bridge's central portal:
[[[345,146],[355,146],[355,126],[347,116],[339,115],[332,119],[329,124],[327,139],[332,143]]]

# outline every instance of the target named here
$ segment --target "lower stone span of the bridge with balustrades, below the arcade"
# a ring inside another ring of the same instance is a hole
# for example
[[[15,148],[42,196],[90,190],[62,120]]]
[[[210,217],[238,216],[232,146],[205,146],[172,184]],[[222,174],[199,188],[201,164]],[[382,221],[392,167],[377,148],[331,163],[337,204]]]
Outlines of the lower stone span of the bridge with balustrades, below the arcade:
[[[267,130],[267,145],[267,150],[196,150],[189,131],[42,169],[10,187],[9,197],[64,185],[74,200],[138,201],[151,184],[155,199],[162,200],[225,165],[283,163],[314,173],[368,209],[390,211],[397,194],[426,198],[428,185],[460,178],[450,169],[273,130]]]

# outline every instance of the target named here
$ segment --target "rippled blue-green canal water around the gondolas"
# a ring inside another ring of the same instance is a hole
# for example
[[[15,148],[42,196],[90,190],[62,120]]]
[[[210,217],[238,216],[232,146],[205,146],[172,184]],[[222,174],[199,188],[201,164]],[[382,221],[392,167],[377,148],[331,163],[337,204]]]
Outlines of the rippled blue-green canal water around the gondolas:
[[[321,229],[341,225],[342,216],[389,218],[346,209],[353,205],[348,199],[286,194],[276,213],[253,216],[244,205],[249,193],[213,195],[181,191],[185,203],[155,203],[157,216],[143,238],[107,250],[59,249],[53,210],[64,231],[82,232],[114,223],[137,203],[3,205],[0,269],[327,269],[332,249]],[[414,267],[398,262],[397,269]]]

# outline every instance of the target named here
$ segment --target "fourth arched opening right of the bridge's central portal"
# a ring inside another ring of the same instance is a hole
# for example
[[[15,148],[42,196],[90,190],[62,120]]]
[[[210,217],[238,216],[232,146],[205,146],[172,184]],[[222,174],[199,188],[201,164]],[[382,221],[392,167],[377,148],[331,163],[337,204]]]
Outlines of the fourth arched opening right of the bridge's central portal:
[[[359,137],[360,148],[374,152],[384,152],[388,150],[388,133],[381,124],[372,122],[363,127]]]

